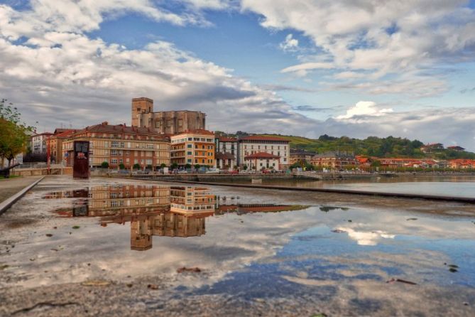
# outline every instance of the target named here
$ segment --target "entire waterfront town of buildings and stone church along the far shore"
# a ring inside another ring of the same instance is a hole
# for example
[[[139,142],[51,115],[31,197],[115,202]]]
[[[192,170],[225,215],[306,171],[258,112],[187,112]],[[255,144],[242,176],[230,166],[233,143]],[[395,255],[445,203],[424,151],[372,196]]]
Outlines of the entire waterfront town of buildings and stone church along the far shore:
[[[153,100],[147,97],[134,98],[130,125],[102,122],[84,128],[56,128],[50,132],[32,133],[25,152],[17,154],[10,162],[2,159],[1,163],[6,166],[8,163],[43,162],[48,166],[70,167],[74,142],[89,141],[89,166],[119,171],[163,171],[168,168],[168,171],[275,173],[293,168],[307,171],[475,169],[475,154],[466,152],[462,146],[445,148],[439,143],[422,144],[393,138],[396,140],[393,148],[405,155],[384,157],[393,152],[392,148],[391,151],[381,150],[384,144],[374,149],[359,144],[354,148],[333,146],[332,150],[322,147],[311,151],[312,144],[305,144],[305,140],[293,136],[241,131],[229,135],[208,131],[203,112],[155,112],[153,106]],[[319,141],[320,144],[332,144],[333,141],[338,145],[342,139],[324,135]],[[358,153],[361,152],[359,149],[364,149],[364,153]]]

